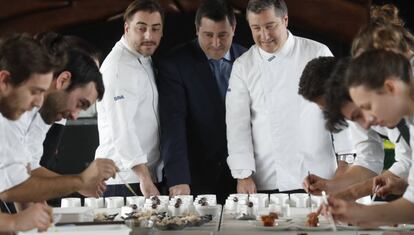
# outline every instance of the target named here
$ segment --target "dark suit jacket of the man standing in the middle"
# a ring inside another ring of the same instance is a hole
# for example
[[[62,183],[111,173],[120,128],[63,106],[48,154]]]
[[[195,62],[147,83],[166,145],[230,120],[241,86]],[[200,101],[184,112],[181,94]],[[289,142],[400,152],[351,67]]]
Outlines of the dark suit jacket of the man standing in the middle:
[[[245,51],[233,43],[232,62]],[[164,57],[158,73],[161,156],[167,186],[215,187],[221,173],[229,172],[225,104],[197,39]]]

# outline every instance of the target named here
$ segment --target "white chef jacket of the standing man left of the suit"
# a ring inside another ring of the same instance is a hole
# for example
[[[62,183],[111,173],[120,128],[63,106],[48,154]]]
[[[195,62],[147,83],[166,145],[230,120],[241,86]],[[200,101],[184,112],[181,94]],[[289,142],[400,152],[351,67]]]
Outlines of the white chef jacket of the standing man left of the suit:
[[[105,95],[97,103],[99,147],[95,157],[112,159],[122,178],[137,183],[132,167],[146,164],[161,180],[158,92],[151,58],[131,49],[124,37],[102,64]],[[122,184],[110,179],[108,184]]]

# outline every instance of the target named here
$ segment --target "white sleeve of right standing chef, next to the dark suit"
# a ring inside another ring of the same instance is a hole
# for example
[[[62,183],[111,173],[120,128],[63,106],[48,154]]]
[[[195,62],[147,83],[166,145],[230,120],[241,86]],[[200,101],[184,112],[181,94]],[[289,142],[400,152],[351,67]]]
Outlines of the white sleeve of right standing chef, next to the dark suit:
[[[242,79],[246,76],[243,65],[236,60],[231,72],[229,88],[226,94],[227,146],[229,156],[227,164],[233,170],[254,172],[250,94]]]

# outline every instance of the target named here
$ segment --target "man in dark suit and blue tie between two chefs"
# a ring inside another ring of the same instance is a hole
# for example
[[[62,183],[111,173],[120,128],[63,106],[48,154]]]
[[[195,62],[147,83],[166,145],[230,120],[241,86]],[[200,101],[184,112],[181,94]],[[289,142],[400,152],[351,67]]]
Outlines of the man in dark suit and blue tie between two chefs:
[[[225,1],[205,1],[195,20],[197,39],[159,63],[161,156],[170,196],[236,192],[226,163],[225,95],[234,60],[236,20]]]

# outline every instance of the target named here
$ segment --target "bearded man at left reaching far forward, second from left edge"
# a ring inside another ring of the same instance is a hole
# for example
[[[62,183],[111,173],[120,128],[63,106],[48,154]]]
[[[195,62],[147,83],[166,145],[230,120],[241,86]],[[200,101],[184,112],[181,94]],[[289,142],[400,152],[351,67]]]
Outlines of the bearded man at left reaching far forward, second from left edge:
[[[78,175],[61,176],[39,165],[42,143],[50,125],[63,118],[76,119],[80,110],[88,108],[104,93],[102,75],[95,61],[81,51],[65,53],[68,59],[54,73],[39,112],[33,109],[15,122],[6,121],[10,147],[0,155],[0,170],[8,179],[0,191],[3,201],[42,201],[77,191],[97,197],[105,190],[104,180],[115,176],[117,168],[109,159],[93,161]]]

